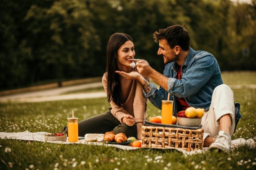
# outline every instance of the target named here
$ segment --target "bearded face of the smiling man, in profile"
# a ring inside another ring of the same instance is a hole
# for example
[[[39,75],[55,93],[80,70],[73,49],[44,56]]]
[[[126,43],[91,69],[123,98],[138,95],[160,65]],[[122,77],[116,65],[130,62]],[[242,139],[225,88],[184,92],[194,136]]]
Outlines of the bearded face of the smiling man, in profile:
[[[176,55],[174,49],[171,49],[166,39],[161,39],[159,41],[159,49],[157,54],[163,56],[165,65],[170,62],[176,62],[179,59],[178,55]]]

